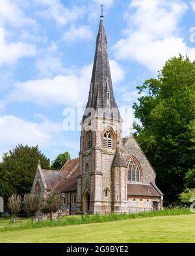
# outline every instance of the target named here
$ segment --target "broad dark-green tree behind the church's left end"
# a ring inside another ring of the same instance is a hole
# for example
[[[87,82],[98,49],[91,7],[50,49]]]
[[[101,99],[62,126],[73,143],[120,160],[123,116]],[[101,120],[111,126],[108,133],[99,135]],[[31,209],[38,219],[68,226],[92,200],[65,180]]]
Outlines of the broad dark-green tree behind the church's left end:
[[[49,159],[38,150],[38,146],[19,144],[3,154],[0,164],[0,193],[7,199],[12,193],[23,195],[31,191],[36,168],[40,161],[42,168],[49,168]]]

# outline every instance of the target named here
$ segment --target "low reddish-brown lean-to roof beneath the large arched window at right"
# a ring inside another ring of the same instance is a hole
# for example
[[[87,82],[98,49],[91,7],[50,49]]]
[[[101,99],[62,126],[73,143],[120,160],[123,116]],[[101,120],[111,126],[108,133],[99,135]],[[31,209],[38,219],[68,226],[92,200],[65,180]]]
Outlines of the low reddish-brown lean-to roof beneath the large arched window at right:
[[[127,184],[127,195],[161,197],[152,184]]]

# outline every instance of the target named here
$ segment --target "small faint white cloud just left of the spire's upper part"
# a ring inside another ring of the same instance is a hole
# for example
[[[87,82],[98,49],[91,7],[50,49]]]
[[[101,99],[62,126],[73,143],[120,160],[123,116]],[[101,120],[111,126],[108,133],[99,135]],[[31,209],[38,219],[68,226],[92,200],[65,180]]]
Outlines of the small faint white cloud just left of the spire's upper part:
[[[89,40],[92,39],[93,33],[89,26],[81,25],[80,27],[72,26],[70,30],[66,31],[63,35],[64,40],[73,42],[75,40],[83,39]]]

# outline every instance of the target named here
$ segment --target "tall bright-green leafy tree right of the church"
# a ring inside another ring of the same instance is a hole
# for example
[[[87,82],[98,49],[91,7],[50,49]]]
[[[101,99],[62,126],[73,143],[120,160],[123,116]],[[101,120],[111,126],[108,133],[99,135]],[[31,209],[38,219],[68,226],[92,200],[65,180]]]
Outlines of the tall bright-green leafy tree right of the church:
[[[195,163],[195,63],[188,57],[166,62],[157,79],[138,86],[135,136],[157,172],[167,202],[177,200]]]

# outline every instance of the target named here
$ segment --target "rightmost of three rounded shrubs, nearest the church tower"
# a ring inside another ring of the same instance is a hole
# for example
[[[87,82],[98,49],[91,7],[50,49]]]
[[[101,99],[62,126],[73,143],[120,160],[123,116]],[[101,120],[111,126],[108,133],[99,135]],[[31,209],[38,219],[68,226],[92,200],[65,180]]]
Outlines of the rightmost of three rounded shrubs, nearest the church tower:
[[[60,191],[52,190],[47,197],[42,199],[42,211],[45,213],[57,212],[62,204]]]

